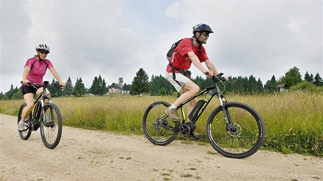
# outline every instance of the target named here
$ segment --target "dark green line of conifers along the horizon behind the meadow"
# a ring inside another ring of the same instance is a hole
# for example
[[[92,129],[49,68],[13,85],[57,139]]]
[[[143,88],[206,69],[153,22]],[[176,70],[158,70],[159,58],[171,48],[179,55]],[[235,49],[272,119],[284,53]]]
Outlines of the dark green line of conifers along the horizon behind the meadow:
[[[309,74],[308,71],[304,75],[304,79],[301,78],[299,69],[293,67],[286,74],[279,79],[276,79],[273,75],[271,80],[268,80],[264,85],[260,78],[256,79],[254,76],[249,77],[232,77],[229,76],[230,84],[226,84],[226,92],[234,94],[263,94],[263,93],[273,93],[277,91],[276,88],[278,84],[286,84],[287,89],[315,89],[316,87],[322,87],[323,80],[317,73],[315,76]],[[200,90],[213,85],[213,81],[207,77],[197,76],[191,79],[196,83]],[[50,84],[57,84],[58,82],[54,79]],[[162,75],[152,75],[149,79],[148,74],[140,68],[133,78],[132,84],[124,84],[124,90],[130,90],[130,95],[152,95],[152,96],[165,96],[165,95],[177,95],[175,88],[169,83],[168,80]],[[62,96],[75,96],[82,97],[86,94],[92,94],[95,96],[104,96],[109,93],[109,87],[107,86],[104,78],[99,75],[95,76],[91,87],[86,88],[84,86],[82,78],[77,78],[75,84],[73,85],[71,78],[69,77],[66,82],[66,87],[64,90],[61,89],[50,89],[52,97],[62,97]],[[8,92],[0,93],[0,100],[10,100],[10,99],[22,99],[21,88],[17,86],[13,88],[11,84],[10,90]]]

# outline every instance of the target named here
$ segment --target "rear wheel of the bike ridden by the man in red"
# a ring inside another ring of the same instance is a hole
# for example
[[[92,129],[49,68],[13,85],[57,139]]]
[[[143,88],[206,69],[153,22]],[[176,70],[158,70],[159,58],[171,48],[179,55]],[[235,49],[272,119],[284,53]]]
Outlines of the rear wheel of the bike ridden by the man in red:
[[[168,145],[176,138],[179,125],[165,115],[165,110],[169,106],[167,102],[157,101],[150,104],[145,111],[143,129],[147,139],[153,144]]]

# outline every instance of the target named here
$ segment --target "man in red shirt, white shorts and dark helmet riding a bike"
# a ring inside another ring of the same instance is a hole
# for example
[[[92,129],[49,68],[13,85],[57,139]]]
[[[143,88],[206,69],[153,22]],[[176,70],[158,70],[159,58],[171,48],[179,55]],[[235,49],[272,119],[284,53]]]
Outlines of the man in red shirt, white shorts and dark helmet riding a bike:
[[[203,72],[204,75],[212,78],[213,75],[218,75],[214,64],[209,60],[205,48],[202,44],[206,44],[209,38],[209,34],[213,33],[212,29],[206,24],[199,24],[193,27],[192,38],[184,38],[181,40],[177,47],[174,49],[174,53],[170,58],[170,64],[167,66],[165,78],[176,88],[177,92],[183,91],[183,94],[165,110],[165,114],[168,115],[175,123],[180,120],[177,115],[177,106],[191,97],[195,96],[199,92],[199,86],[190,80],[190,72],[187,76],[187,70],[191,67],[191,63],[197,67],[198,70]],[[205,62],[208,70],[204,69],[201,62]],[[173,73],[174,70],[174,73]],[[183,75],[184,74],[184,75]],[[225,77],[228,81],[228,78]],[[189,102],[187,115],[197,103],[197,99],[193,99]],[[190,122],[191,120],[188,120]],[[203,137],[202,134],[192,131],[195,139]]]

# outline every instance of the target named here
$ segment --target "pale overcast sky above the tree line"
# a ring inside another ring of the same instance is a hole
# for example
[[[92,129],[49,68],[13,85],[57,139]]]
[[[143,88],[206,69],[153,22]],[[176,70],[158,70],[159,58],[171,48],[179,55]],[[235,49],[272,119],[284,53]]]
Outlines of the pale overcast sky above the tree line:
[[[322,1],[1,1],[0,92],[20,86],[35,46],[67,81],[87,88],[101,75],[107,85],[131,84],[142,67],[165,75],[166,53],[178,39],[208,24],[205,48],[226,76],[253,75],[265,84],[296,66],[323,77]],[[205,66],[205,64],[204,64]],[[205,66],[206,67],[206,66]],[[192,76],[203,76],[192,64]],[[52,81],[47,71],[44,80]]]

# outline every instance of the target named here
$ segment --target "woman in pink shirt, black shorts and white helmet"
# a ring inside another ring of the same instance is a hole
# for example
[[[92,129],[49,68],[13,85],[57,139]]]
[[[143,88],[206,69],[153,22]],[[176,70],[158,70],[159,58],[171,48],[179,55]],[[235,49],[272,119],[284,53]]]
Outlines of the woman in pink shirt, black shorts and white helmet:
[[[18,123],[19,131],[26,129],[25,127],[28,126],[27,123],[25,123],[25,119],[27,118],[34,106],[34,94],[38,95],[41,94],[43,91],[42,87],[31,86],[28,84],[28,82],[43,84],[43,78],[48,68],[60,85],[62,85],[63,87],[65,87],[66,85],[62,81],[62,79],[60,79],[58,73],[54,69],[52,62],[46,59],[47,54],[49,53],[49,47],[46,44],[39,44],[36,46],[36,53],[37,55],[27,60],[23,73],[22,92],[27,106],[23,111],[21,121]],[[50,97],[50,92],[47,89],[46,91],[49,94],[48,96]]]

